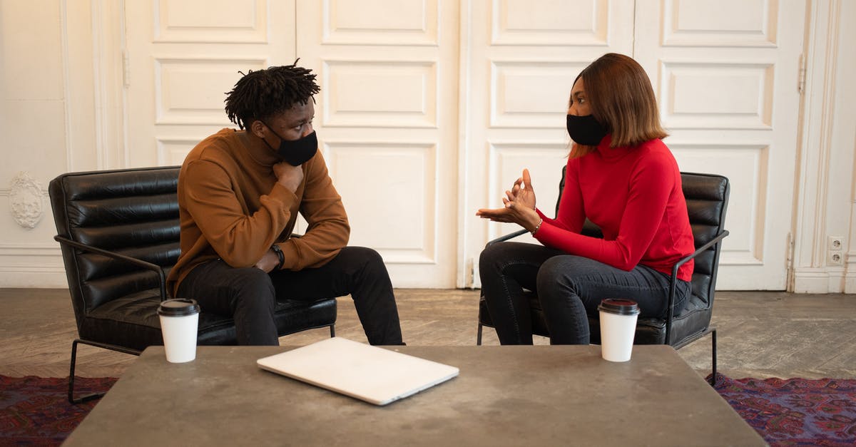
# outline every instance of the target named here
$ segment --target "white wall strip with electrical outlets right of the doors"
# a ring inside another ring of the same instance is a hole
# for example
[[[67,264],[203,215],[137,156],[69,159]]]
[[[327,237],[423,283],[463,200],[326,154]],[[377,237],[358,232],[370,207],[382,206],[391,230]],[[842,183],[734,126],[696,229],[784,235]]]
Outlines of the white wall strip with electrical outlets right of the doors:
[[[823,0],[810,8],[790,288],[856,293],[856,3]],[[830,256],[833,236],[844,242],[838,263]]]

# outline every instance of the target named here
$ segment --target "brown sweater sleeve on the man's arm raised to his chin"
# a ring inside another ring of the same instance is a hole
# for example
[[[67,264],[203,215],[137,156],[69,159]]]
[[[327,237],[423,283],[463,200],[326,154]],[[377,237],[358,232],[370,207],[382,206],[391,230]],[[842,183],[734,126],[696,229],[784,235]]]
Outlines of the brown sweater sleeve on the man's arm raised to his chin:
[[[251,267],[270,250],[288,224],[289,206],[297,200],[276,183],[270,194],[260,198],[259,210],[247,216],[235,196],[232,178],[211,160],[189,162],[183,181],[187,212],[217,255],[233,267]]]

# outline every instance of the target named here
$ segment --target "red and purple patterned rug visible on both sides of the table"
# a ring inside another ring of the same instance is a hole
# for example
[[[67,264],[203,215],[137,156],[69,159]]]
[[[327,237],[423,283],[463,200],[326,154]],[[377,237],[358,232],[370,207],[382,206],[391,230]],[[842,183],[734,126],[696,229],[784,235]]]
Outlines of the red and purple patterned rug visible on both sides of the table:
[[[770,445],[856,445],[856,380],[728,378],[716,390]],[[116,378],[75,378],[80,394]],[[98,403],[66,400],[68,378],[0,376],[0,445],[59,445]]]

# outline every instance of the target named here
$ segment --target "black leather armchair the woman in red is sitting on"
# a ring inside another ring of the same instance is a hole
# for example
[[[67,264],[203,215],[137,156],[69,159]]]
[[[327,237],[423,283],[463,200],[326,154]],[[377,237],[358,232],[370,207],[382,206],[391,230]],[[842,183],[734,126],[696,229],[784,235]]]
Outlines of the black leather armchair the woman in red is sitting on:
[[[562,169],[562,183],[559,185],[561,200],[562,188],[565,182],[565,171]],[[713,311],[713,296],[716,289],[716,271],[719,266],[719,254],[722,249],[722,239],[728,235],[725,225],[725,212],[728,208],[728,178],[710,174],[681,173],[681,183],[684,196],[687,199],[687,212],[693,227],[696,251],[678,261],[672,270],[676,277],[678,267],[689,259],[695,259],[693,270],[693,294],[686,305],[672,311],[675,302],[675,283],[671,284],[669,292],[669,314],[665,319],[640,318],[636,324],[635,344],[669,344],[680,349],[698,338],[711,334],[713,378],[716,378],[716,328],[710,327],[710,315]],[[558,202],[556,203],[558,209]],[[499,241],[508,241],[513,237],[526,233],[522,229],[509,235],[504,235],[488,245]],[[586,220],[582,233],[595,237],[603,237],[596,225]],[[544,320],[544,311],[538,301],[538,296],[529,294],[532,310],[532,332],[536,335],[550,337],[550,331]],[[481,344],[483,326],[493,327],[490,313],[484,296],[479,300],[479,332],[476,343]],[[600,343],[600,320],[597,315],[589,315],[591,343]]]

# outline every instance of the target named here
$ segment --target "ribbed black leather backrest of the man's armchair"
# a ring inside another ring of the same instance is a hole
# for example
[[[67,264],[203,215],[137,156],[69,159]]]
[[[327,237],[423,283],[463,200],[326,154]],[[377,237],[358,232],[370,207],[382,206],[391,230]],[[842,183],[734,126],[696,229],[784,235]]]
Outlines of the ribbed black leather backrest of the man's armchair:
[[[180,253],[177,166],[74,172],[51,181],[59,236],[122,253],[169,271]],[[62,246],[74,316],[137,290],[158,289],[158,275],[102,254]]]

